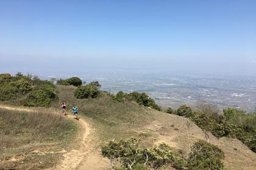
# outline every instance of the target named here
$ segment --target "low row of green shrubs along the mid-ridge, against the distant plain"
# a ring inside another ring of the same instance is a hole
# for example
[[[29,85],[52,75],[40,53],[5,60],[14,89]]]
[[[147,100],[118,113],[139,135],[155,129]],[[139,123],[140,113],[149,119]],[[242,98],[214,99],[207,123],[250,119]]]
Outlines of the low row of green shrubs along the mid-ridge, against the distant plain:
[[[132,92],[130,94],[126,94],[120,91],[115,96],[113,96],[113,101],[124,102],[125,99],[136,101],[142,106],[152,107],[155,110],[161,110],[161,107],[155,103],[154,99],[149,97],[149,95],[146,93]]]

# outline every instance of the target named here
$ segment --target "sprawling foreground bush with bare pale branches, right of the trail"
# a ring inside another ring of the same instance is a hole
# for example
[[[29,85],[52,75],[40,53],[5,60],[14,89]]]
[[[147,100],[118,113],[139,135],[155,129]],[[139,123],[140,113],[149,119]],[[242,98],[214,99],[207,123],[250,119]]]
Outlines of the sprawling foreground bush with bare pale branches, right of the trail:
[[[135,138],[116,142],[110,141],[102,146],[102,155],[110,159],[112,168],[117,169],[159,169],[166,165],[182,169],[185,161],[166,144],[141,148]]]

